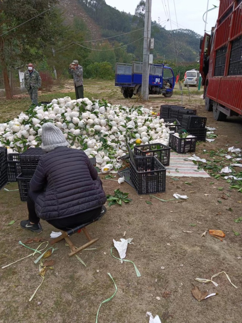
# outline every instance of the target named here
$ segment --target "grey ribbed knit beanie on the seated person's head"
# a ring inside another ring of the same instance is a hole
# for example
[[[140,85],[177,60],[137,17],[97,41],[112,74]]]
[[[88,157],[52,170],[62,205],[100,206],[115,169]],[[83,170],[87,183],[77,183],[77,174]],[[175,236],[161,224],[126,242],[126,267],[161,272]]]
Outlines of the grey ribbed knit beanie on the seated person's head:
[[[54,123],[46,122],[42,126],[42,144],[41,148],[44,151],[52,151],[59,146],[68,146],[69,143],[63,132],[57,128]]]

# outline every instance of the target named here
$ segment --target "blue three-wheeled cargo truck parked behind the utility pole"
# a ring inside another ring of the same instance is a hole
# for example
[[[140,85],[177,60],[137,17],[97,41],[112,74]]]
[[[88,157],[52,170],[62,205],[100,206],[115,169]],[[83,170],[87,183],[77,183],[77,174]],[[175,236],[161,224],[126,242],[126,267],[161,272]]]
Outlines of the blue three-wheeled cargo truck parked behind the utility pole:
[[[125,98],[134,94],[141,95],[142,62],[133,64],[116,63],[115,86],[121,87]],[[164,64],[149,65],[149,94],[162,94],[170,98],[175,86],[175,76],[172,68]]]

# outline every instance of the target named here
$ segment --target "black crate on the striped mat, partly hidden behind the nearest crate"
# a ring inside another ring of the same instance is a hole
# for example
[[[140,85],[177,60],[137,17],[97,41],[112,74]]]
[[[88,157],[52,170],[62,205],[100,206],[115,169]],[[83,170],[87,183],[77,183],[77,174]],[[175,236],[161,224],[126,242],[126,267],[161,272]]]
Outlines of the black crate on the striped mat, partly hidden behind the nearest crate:
[[[164,166],[168,166],[170,164],[170,151],[170,147],[161,143],[134,146],[134,154],[136,156],[154,156]]]

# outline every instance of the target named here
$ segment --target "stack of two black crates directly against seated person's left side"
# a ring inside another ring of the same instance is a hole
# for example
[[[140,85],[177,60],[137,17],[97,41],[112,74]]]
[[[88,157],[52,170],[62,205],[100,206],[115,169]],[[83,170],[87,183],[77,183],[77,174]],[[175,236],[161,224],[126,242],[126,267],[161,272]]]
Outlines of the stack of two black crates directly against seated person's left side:
[[[19,156],[21,173],[17,176],[20,200],[27,201],[29,182],[34,175],[39,159],[45,154],[41,148],[29,148]]]

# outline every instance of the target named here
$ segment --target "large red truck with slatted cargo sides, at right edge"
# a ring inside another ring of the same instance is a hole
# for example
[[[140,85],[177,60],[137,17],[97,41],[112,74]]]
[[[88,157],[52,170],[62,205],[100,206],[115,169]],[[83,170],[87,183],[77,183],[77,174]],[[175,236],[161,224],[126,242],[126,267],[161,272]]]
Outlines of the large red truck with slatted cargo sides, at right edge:
[[[242,0],[220,0],[217,24],[200,40],[205,108],[214,119],[242,114]]]

